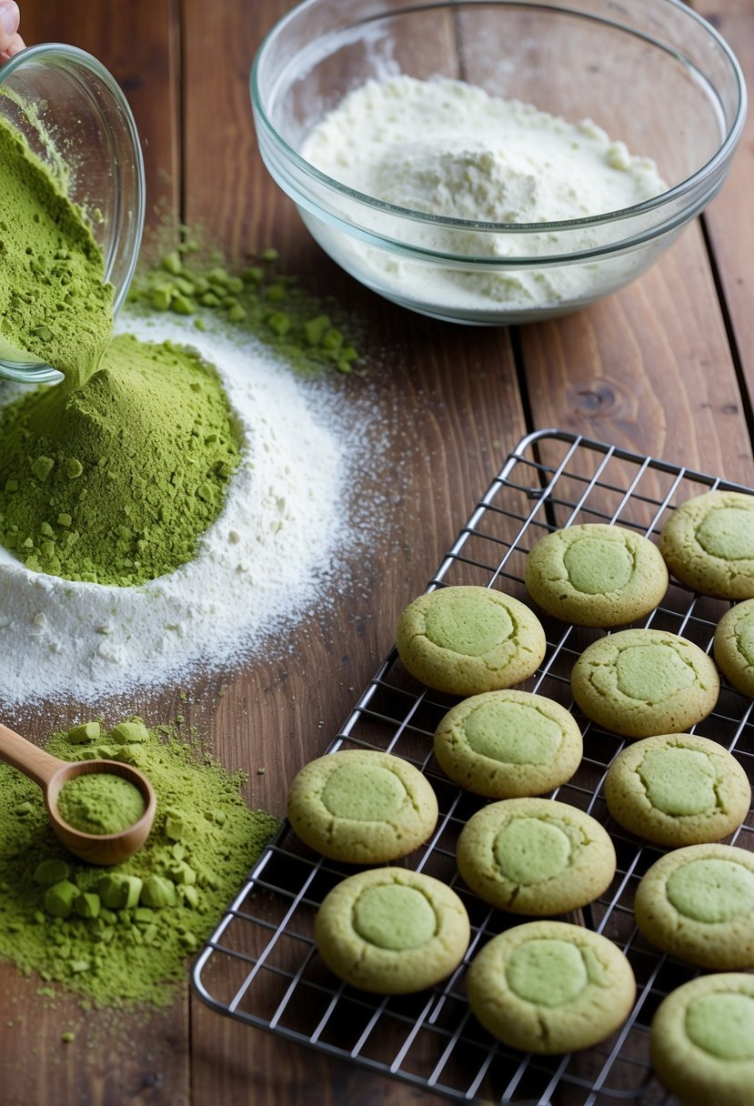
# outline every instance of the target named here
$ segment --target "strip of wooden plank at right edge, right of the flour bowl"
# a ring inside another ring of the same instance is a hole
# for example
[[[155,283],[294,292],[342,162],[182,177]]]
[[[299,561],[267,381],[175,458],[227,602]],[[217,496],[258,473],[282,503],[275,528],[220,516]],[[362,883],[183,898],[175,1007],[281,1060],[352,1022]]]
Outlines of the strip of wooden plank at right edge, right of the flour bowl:
[[[754,7],[750,0],[699,0],[693,7],[708,19],[734,50],[748,88],[748,114],[731,173],[720,195],[704,215],[743,378],[754,394]]]

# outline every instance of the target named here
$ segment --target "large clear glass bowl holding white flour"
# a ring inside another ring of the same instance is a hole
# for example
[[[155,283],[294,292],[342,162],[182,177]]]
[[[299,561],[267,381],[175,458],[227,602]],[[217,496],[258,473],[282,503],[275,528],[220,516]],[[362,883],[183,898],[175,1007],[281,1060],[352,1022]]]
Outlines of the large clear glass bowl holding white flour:
[[[591,119],[653,159],[663,190],[586,218],[478,221],[375,199],[302,156],[349,92],[397,74]],[[565,314],[639,276],[720,189],[746,112],[730,48],[678,0],[306,0],[262,43],[251,100],[268,169],[338,264],[402,306],[477,324]]]

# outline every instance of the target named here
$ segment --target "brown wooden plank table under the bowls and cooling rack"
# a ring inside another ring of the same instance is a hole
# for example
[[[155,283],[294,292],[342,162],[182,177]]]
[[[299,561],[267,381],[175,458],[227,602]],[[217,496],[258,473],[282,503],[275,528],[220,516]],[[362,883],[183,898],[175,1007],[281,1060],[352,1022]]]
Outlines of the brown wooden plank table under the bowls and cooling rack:
[[[98,56],[133,105],[153,223],[203,222],[231,253],[274,243],[367,321],[368,389],[388,450],[384,538],[366,575],[322,615],[291,628],[291,651],[190,690],[190,721],[218,757],[252,770],[248,799],[282,814],[286,783],[324,751],[388,651],[400,608],[423,589],[459,525],[527,431],[561,427],[754,483],[754,118],[731,177],[702,221],[632,286],[567,319],[517,331],[443,325],[395,309],[344,276],[310,241],[259,157],[251,59],[289,0],[22,0],[28,43],[66,41]],[[751,0],[694,2],[735,46],[754,85]],[[38,734],[65,721],[56,708]],[[177,689],[139,695],[149,721],[186,711]],[[12,723],[12,719],[10,720]],[[253,771],[266,765],[264,775]],[[50,1003],[2,964],[0,1102],[285,1103],[440,1100],[219,1016],[189,993],[166,1013],[82,1014]],[[73,1044],[61,1032],[76,1030]]]

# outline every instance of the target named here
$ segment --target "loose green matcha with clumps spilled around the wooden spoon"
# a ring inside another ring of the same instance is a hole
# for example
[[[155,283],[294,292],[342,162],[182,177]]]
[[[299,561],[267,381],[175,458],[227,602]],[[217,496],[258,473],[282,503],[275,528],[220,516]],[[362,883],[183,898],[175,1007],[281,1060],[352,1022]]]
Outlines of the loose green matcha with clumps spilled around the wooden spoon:
[[[134,744],[56,733],[46,748],[62,760],[134,764],[155,789],[157,814],[134,856],[87,865],[53,834],[39,787],[0,764],[0,954],[98,1006],[167,1005],[186,957],[216,928],[277,821],[249,810],[242,772],[168,727]]]

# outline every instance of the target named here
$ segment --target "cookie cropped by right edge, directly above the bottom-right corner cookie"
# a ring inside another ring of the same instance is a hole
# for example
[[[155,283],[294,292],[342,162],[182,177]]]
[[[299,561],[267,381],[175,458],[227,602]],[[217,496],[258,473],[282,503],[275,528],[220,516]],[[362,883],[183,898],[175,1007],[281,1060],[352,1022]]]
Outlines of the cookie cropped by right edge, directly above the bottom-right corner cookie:
[[[699,968],[754,968],[754,853],[689,845],[662,856],[633,902],[648,941]]]

